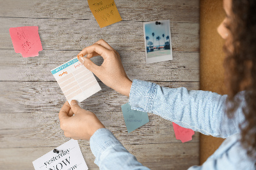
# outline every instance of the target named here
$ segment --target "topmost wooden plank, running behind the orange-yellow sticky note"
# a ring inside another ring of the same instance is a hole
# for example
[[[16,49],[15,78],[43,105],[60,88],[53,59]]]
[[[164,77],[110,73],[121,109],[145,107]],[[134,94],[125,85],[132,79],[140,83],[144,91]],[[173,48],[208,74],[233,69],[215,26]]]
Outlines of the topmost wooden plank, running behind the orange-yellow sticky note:
[[[87,1],[77,0],[2,0],[0,17],[95,20]],[[199,1],[115,1],[123,20],[150,21],[170,19],[174,22],[199,22]],[[19,10],[17,10],[19,9]],[[98,26],[99,27],[99,26]]]

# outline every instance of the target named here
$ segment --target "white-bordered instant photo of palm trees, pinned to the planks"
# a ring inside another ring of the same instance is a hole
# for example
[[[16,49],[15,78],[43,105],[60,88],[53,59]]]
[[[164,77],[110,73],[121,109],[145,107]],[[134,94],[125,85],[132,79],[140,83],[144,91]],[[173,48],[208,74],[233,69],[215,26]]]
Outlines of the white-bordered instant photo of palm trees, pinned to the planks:
[[[172,60],[170,20],[143,23],[146,64]]]

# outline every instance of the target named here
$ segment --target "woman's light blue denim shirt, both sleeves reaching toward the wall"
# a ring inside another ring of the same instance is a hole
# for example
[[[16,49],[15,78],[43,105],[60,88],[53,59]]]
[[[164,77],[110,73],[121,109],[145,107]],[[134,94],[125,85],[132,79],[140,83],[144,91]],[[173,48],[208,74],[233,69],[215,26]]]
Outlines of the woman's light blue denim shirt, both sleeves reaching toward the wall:
[[[230,119],[225,114],[226,98],[227,95],[210,91],[164,88],[152,82],[134,79],[129,104],[132,109],[157,114],[181,127],[227,138],[202,166],[192,166],[189,170],[254,169],[255,160],[246,155],[246,150],[239,142],[239,123],[244,120],[244,101],[241,101],[241,107],[237,109],[234,118]],[[148,169],[106,128],[100,128],[92,135],[90,147],[95,156],[95,164],[100,169]]]

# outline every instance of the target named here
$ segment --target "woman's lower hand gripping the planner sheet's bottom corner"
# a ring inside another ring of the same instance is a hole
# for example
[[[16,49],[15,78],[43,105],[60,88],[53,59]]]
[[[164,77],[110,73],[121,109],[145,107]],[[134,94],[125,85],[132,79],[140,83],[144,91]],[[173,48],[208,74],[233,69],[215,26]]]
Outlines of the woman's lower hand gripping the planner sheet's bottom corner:
[[[65,102],[59,112],[59,119],[64,135],[76,140],[90,140],[94,132],[99,128],[105,128],[93,112],[82,109],[76,100],[72,100],[70,105]]]

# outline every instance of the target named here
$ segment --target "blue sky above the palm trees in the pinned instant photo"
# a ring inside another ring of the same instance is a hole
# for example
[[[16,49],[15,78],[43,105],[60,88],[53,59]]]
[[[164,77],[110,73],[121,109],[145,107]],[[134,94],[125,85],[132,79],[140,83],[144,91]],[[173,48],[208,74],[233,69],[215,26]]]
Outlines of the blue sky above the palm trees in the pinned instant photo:
[[[160,25],[156,25],[155,22],[154,23],[150,23],[150,24],[145,24],[145,35],[149,37],[148,42],[153,42],[153,36],[152,33],[155,33],[154,35],[154,46],[159,46],[159,42],[156,40],[157,36],[161,37],[160,40],[160,45],[163,46],[164,42],[166,42],[166,36],[169,36],[169,29],[170,27],[168,27],[168,21],[162,21]],[[164,34],[164,41],[163,41],[163,35]],[[146,37],[145,36],[145,37]],[[169,40],[168,40],[169,41]]]

